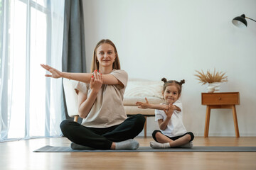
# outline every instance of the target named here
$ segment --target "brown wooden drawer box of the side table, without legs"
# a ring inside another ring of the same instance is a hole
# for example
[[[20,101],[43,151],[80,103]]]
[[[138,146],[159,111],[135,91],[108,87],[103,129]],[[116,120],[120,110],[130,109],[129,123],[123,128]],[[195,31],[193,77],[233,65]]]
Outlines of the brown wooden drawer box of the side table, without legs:
[[[239,92],[202,93],[202,105],[238,105]]]

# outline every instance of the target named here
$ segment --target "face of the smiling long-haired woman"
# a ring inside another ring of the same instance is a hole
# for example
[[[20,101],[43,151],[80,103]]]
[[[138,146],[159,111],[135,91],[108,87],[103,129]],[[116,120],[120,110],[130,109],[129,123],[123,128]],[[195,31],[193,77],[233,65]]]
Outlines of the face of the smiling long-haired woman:
[[[97,61],[100,67],[111,67],[115,60],[116,52],[114,47],[110,44],[104,43],[97,48]]]

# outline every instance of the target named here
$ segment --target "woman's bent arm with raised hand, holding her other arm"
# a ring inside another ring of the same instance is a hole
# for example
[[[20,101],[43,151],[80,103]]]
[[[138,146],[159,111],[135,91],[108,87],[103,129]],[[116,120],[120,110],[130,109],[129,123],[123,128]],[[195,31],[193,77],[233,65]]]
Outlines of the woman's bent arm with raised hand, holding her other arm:
[[[101,86],[102,75],[94,73],[94,77],[91,77],[90,79],[90,88],[92,90],[90,96],[87,98],[87,94],[82,94],[80,91],[78,92],[78,114],[80,118],[86,118],[88,113],[90,113],[90,110],[93,106],[93,103],[95,103],[97,93],[100,91]]]

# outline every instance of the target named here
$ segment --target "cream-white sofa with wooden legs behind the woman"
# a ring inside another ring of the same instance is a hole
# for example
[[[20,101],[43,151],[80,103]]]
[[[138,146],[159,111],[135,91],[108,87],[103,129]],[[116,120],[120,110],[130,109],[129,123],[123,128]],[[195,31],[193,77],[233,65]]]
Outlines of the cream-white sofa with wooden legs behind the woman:
[[[78,121],[78,95],[75,93],[75,85],[78,81],[63,79],[63,87],[66,98],[68,115]],[[124,93],[124,110],[128,116],[142,114],[145,118],[154,116],[154,109],[142,109],[136,106],[137,101],[145,102],[145,97],[149,103],[163,103],[161,94],[163,88],[162,81],[151,81],[145,79],[129,79]],[[144,137],[146,137],[146,122],[144,125]]]

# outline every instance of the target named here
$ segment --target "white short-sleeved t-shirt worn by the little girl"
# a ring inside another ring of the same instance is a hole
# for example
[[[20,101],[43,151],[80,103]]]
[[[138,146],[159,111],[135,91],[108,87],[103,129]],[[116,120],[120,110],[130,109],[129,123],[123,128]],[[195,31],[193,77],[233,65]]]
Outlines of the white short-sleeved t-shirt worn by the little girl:
[[[169,137],[176,137],[179,135],[183,135],[187,132],[185,126],[183,125],[183,110],[181,101],[177,100],[173,103],[173,105],[177,106],[181,109],[181,111],[174,111],[173,115],[171,115],[171,120],[169,121],[165,130],[161,130],[161,132]],[[159,119],[166,120],[167,116],[164,111],[155,110],[155,120]]]

